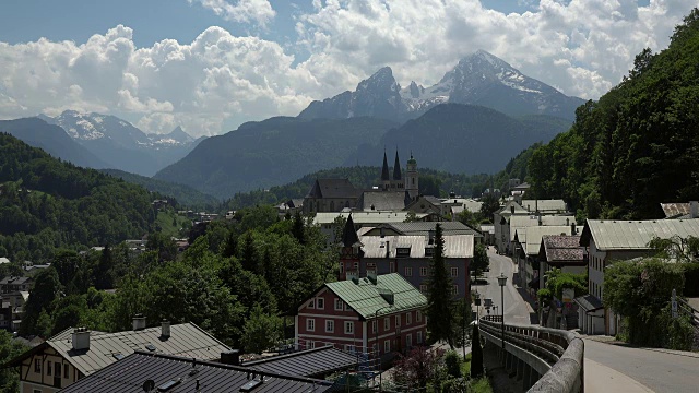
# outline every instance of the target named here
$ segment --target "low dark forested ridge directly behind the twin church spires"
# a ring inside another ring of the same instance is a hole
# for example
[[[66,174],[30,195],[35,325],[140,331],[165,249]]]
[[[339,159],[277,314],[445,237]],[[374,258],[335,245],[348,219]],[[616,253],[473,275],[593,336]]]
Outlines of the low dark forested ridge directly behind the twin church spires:
[[[419,165],[419,162],[418,162]],[[405,171],[405,167],[402,168]],[[392,172],[393,169],[390,169]],[[490,187],[490,176],[448,174],[429,168],[419,168],[419,192],[425,195],[447,196],[453,191],[463,196],[478,196]],[[257,190],[236,193],[224,202],[225,210],[236,210],[262,204],[277,204],[289,199],[304,198],[316,179],[347,178],[356,188],[370,189],[380,183],[380,167],[355,166],[320,170],[284,186],[272,187],[269,190]],[[497,182],[496,182],[497,184]],[[497,187],[497,186],[496,186]]]

